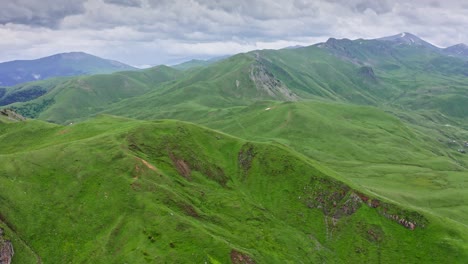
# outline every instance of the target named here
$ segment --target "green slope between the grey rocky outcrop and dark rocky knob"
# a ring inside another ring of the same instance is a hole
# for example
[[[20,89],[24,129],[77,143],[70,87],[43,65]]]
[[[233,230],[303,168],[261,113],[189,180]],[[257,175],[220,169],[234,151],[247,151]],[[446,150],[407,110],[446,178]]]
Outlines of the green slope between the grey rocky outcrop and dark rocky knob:
[[[258,54],[278,79],[304,98],[376,104],[390,90],[360,76],[360,66],[316,46]]]

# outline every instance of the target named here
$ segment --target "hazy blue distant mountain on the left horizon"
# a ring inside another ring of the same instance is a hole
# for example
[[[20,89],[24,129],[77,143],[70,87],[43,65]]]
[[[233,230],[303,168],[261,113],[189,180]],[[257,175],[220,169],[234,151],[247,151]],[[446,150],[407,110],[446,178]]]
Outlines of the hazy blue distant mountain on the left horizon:
[[[136,68],[84,52],[60,53],[36,60],[15,60],[0,63],[0,85],[13,86],[52,77],[112,73],[126,70],[136,70]]]

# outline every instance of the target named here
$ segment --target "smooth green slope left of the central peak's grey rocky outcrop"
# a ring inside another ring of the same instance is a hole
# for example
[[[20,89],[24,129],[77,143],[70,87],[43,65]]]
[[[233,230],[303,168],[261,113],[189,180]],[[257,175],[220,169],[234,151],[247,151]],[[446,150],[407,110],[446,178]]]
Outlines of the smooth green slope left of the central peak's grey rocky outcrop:
[[[164,84],[144,96],[113,104],[105,112],[141,119],[190,117],[196,120],[211,111],[272,99],[256,89],[250,79],[253,63],[255,59],[252,56],[239,54],[210,67],[191,71],[176,82]]]

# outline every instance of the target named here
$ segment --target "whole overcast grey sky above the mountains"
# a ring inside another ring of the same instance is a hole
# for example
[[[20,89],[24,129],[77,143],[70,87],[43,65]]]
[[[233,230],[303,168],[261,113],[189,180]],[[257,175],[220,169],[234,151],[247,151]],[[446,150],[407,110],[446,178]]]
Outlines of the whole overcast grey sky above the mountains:
[[[84,51],[134,66],[411,32],[468,44],[462,0],[0,0],[0,61]]]

